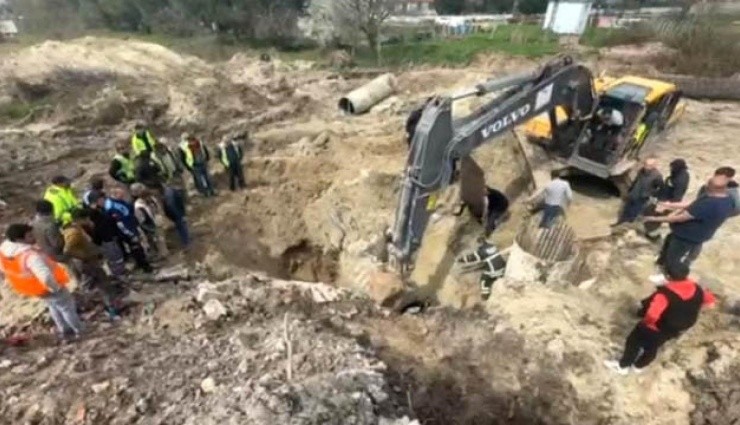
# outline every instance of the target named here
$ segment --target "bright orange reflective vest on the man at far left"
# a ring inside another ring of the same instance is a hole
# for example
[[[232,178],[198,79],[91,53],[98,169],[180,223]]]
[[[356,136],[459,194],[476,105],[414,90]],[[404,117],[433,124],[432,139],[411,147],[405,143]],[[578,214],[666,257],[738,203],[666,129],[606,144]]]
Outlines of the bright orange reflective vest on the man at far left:
[[[30,248],[12,258],[0,254],[0,268],[5,274],[5,281],[13,290],[19,295],[27,297],[43,297],[49,293],[44,282],[40,281],[26,265],[28,257],[34,254],[40,255],[44,259],[54,276],[54,280],[60,286],[66,287],[69,283],[67,270],[41,251]]]

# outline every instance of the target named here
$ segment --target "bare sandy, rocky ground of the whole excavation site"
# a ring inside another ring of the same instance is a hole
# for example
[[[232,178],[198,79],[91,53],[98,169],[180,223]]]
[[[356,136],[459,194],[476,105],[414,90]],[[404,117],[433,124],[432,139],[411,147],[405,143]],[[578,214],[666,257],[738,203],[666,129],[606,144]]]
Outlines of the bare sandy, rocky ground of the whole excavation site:
[[[436,306],[398,315],[372,302],[403,289],[382,271],[382,235],[405,160],[405,114],[492,70],[533,65],[488,57],[466,69],[409,70],[397,76],[396,96],[348,117],[336,101],[367,78],[311,64],[245,55],[208,64],[95,38],[3,58],[0,106],[34,107],[0,127],[0,151],[12,159],[0,165],[2,223],[28,217],[54,174],[83,187],[136,119],[170,142],[182,131],[211,142],[249,130],[253,140],[248,190],[194,198],[195,246],[170,260],[202,277],[134,288],[116,326],[89,311],[92,333],[83,341],[57,346],[39,336],[5,348],[0,423],[733,423],[740,222],[718,233],[695,270],[721,306],[641,376],[617,378],[601,362],[618,354],[634,304],[650,292],[645,277],[657,247],[633,232],[606,236],[619,202],[594,182],[574,182],[568,217],[579,232],[604,235],[580,246],[592,279],[501,282],[482,302],[475,276],[451,264],[470,248],[477,225],[442,217],[414,276]],[[594,66],[634,68],[614,55]],[[664,165],[685,158],[694,191],[717,165],[737,162],[740,108],[688,106],[656,153]],[[489,185],[527,193],[513,137],[480,149],[476,160]],[[225,187],[223,176],[217,180]],[[522,210],[517,203],[494,236],[500,246],[512,242]],[[43,317],[41,306],[0,292],[0,333],[43,333]]]

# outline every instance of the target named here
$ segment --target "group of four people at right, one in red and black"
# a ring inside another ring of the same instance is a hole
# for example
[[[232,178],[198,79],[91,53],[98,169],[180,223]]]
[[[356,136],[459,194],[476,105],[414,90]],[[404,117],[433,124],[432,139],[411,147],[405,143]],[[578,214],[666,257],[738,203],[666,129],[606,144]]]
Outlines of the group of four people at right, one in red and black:
[[[645,235],[660,239],[659,227],[668,223],[670,233],[656,260],[659,273],[650,276],[656,291],[643,300],[641,320],[627,337],[622,357],[605,365],[621,375],[640,373],[658,349],[696,323],[702,307],[715,304],[715,296],[689,277],[691,264],[717,230],[740,214],[740,193],[732,167],[720,167],[699,189],[696,199],[685,201],[689,184],[686,162],[676,159],[664,180],[657,161],[645,161],[615,225],[641,218]]]

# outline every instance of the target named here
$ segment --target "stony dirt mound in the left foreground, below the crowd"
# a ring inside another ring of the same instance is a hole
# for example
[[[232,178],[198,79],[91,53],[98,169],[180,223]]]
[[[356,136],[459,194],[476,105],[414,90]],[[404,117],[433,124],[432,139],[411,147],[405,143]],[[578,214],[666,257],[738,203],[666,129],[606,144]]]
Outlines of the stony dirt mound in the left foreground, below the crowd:
[[[171,289],[164,288],[164,303],[131,312],[125,333],[98,328],[61,348],[39,342],[5,350],[2,417],[44,424],[411,423],[395,403],[385,365],[342,335],[343,320],[372,307],[350,304],[329,287],[259,276],[180,286],[176,295]],[[214,316],[213,304],[225,316]]]

